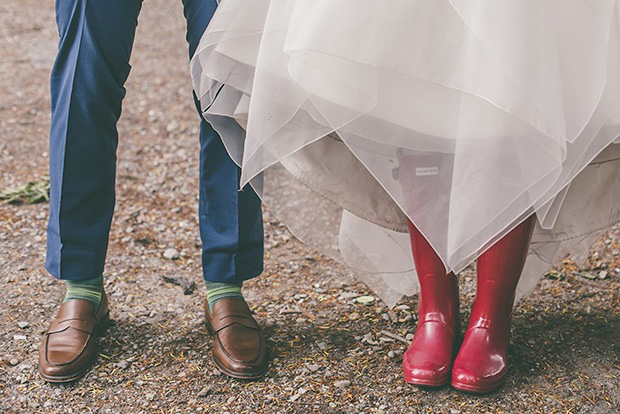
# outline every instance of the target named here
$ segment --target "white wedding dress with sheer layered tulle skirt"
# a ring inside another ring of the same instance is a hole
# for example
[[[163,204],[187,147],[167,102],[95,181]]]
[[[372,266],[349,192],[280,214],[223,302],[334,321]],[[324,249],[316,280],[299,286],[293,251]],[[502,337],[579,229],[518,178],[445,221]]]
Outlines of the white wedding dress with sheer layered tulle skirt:
[[[620,221],[619,23],[618,0],[223,0],[191,70],[242,184],[388,305],[417,291],[407,217],[458,273],[535,213],[522,296]]]

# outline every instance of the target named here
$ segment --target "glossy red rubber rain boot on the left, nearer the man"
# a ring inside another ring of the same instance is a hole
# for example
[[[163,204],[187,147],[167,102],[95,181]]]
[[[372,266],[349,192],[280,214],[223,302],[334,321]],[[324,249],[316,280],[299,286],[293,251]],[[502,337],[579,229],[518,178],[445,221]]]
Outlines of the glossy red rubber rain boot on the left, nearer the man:
[[[420,281],[418,326],[403,356],[405,381],[438,387],[450,380],[459,334],[459,288],[424,236],[409,222],[411,248]]]

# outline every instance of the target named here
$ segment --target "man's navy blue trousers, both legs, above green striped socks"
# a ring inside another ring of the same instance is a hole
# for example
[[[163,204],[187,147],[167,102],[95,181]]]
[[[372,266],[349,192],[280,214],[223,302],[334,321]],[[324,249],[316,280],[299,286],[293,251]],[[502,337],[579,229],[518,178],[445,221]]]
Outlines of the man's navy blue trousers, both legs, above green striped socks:
[[[56,0],[60,33],[51,76],[50,218],[46,268],[55,277],[102,274],[114,211],[117,121],[142,0]],[[216,0],[183,0],[190,56]],[[200,121],[202,266],[205,280],[241,282],[263,269],[260,199],[238,191],[240,171]]]

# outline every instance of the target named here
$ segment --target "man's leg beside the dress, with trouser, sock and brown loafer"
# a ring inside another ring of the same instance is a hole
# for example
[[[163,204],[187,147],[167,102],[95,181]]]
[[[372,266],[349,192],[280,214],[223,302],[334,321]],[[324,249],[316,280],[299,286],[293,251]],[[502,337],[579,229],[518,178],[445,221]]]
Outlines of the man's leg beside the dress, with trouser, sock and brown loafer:
[[[183,0],[183,6],[191,57],[217,1]],[[216,336],[213,357],[225,374],[252,379],[266,372],[266,343],[241,296],[241,284],[263,271],[263,221],[260,199],[250,187],[238,191],[239,178],[239,167],[219,135],[201,119],[200,235],[205,312]]]

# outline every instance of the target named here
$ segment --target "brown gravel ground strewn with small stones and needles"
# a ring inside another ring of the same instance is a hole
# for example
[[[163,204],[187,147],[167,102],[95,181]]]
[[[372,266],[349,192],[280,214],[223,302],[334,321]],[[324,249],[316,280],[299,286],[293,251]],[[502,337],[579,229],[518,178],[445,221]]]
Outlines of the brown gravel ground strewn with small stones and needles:
[[[0,191],[47,171],[52,3],[0,3]],[[400,339],[413,333],[417,299],[391,311],[356,302],[367,288],[267,213],[265,273],[245,291],[270,338],[271,370],[253,383],[221,375],[201,307],[197,121],[180,3],[149,0],[140,18],[105,274],[114,324],[81,381],[48,385],[36,372],[41,334],[64,293],[42,265],[48,206],[0,204],[0,411],[620,412],[618,229],[586,267],[559,264],[517,306],[507,384],[477,397],[404,383]],[[464,323],[473,282],[465,272]]]

